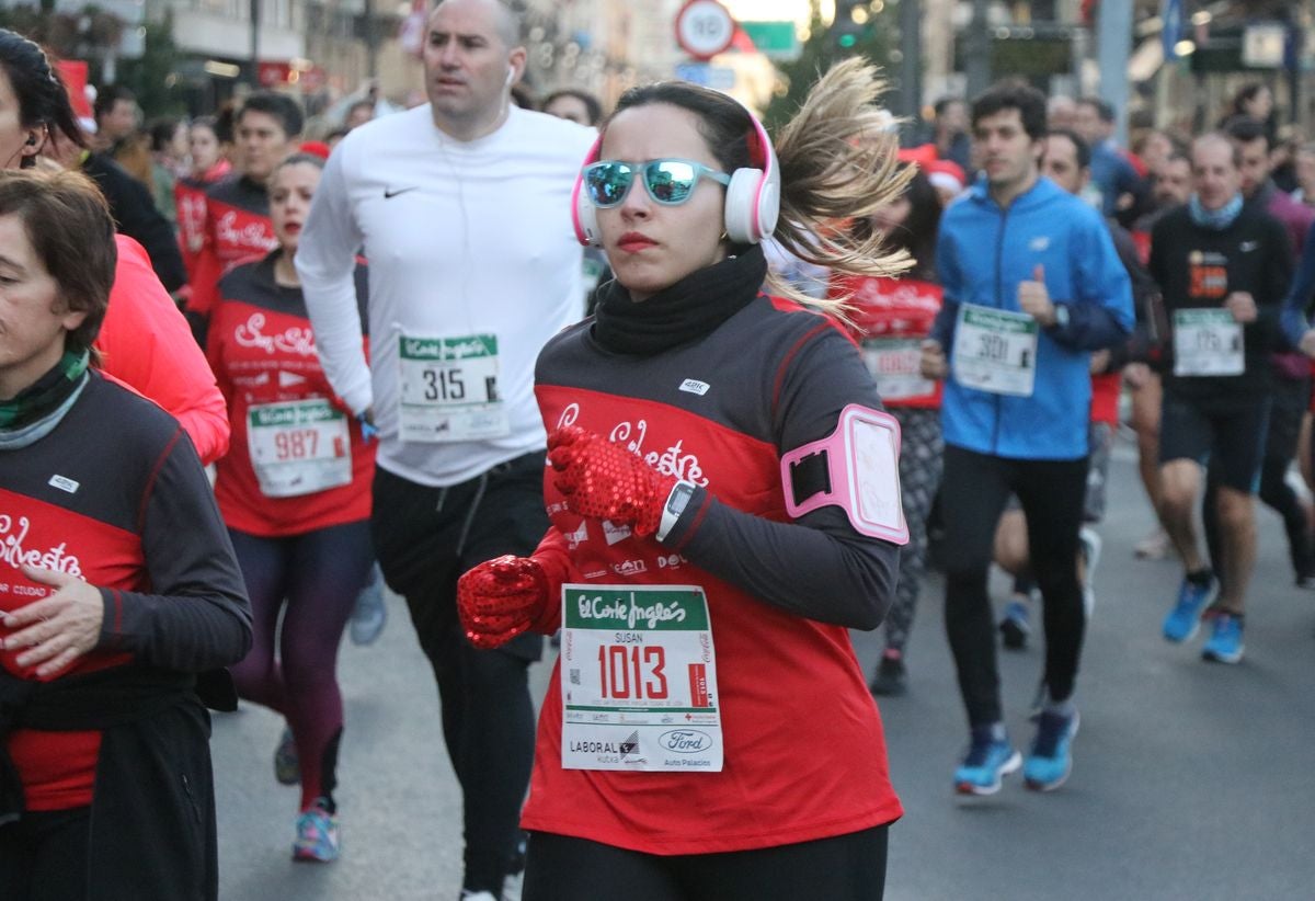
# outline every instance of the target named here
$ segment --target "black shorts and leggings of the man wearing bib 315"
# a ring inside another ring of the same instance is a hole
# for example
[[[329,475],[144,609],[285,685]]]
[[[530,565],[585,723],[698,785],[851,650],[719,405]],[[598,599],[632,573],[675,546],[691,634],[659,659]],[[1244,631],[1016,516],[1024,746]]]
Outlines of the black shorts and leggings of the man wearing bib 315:
[[[534,760],[527,668],[542,647],[522,635],[476,650],[456,616],[456,580],[477,563],[534,551],[548,529],[543,452],[450,488],[375,472],[375,551],[388,587],[406,598],[438,680],[443,739],[464,800],[463,888],[500,896],[519,844]]]

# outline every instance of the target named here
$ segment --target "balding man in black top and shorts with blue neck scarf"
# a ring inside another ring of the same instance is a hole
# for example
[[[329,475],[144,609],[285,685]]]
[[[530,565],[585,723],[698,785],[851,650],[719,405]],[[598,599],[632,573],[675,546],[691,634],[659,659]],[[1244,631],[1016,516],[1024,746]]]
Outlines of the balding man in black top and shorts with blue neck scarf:
[[[1256,558],[1253,495],[1270,405],[1268,358],[1293,260],[1282,224],[1244,207],[1240,159],[1228,138],[1198,138],[1191,170],[1191,197],[1156,224],[1151,242],[1151,275],[1164,293],[1170,334],[1160,425],[1161,518],[1185,568],[1164,637],[1187,641],[1211,608],[1212,634],[1202,654],[1237,663]],[[1220,472],[1222,592],[1193,525],[1211,455]]]

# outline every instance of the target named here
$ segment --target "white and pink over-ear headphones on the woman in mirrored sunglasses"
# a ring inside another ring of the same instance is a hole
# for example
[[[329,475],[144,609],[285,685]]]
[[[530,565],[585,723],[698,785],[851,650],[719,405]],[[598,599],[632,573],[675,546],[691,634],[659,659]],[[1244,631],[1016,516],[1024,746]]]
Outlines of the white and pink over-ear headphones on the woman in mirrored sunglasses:
[[[748,107],[744,104],[740,107],[753,125],[753,130],[748,134],[748,154],[753,167],[738,168],[731,174],[731,183],[726,187],[723,216],[727,238],[738,245],[756,245],[776,230],[776,218],[781,212],[781,168],[767,129]],[[589,192],[584,189],[584,168],[598,162],[601,149],[602,134],[589,147],[580,174],[576,175],[575,189],[571,192],[571,220],[576,239],[586,247],[602,243],[598,210],[589,201]]]

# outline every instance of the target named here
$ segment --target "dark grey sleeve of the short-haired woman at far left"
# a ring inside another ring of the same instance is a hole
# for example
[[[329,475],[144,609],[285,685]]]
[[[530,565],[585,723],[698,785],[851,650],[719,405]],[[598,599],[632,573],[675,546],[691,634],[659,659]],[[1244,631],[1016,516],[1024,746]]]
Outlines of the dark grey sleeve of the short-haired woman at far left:
[[[155,470],[141,522],[151,593],[103,588],[97,647],[181,672],[237,663],[251,647],[251,606],[205,471],[181,429]]]

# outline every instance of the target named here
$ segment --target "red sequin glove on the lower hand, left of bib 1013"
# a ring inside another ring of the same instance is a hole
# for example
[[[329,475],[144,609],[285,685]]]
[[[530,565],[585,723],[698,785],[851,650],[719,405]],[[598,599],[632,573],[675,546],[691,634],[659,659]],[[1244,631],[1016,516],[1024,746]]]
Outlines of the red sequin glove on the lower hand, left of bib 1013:
[[[456,581],[456,612],[471,645],[502,647],[529,631],[548,605],[548,579],[538,560],[498,556]]]

